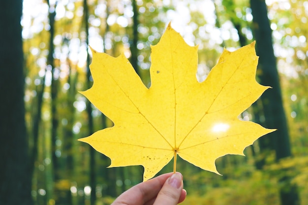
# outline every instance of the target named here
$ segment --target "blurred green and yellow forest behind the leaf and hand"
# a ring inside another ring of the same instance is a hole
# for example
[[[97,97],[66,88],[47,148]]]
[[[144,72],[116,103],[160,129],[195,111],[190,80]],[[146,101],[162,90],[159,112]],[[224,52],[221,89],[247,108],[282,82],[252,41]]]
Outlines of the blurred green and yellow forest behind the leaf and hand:
[[[78,90],[92,86],[88,45],[124,53],[148,86],[150,45],[170,21],[199,45],[199,81],[223,47],[256,40],[257,81],[273,89],[240,118],[278,128],[246,157],[217,159],[223,176],[179,159],[183,205],[308,205],[307,0],[12,0],[0,10],[0,205],[108,205],[142,180],[142,167],[106,169],[77,141],[112,126]]]

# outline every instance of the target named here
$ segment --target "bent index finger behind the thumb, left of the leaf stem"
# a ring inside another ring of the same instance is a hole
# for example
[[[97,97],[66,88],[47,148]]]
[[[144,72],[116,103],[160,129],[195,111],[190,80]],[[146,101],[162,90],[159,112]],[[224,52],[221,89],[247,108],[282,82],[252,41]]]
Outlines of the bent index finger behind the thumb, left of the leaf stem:
[[[157,176],[145,182],[141,182],[121,194],[112,205],[144,205],[154,199],[161,187],[173,173]]]

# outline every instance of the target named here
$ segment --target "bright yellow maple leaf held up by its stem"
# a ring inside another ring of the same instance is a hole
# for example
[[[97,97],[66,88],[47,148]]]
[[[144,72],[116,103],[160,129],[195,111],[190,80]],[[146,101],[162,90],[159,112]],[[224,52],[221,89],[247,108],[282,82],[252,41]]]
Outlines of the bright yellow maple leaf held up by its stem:
[[[269,87],[255,80],[254,43],[224,50],[207,79],[196,79],[197,47],[169,25],[152,46],[151,87],[146,88],[124,55],[92,50],[93,86],[84,94],[114,126],[79,141],[110,157],[110,167],[142,165],[144,180],[179,155],[218,174],[215,160],[244,155],[246,146],[273,132],[238,116]],[[175,168],[174,168],[175,170]]]

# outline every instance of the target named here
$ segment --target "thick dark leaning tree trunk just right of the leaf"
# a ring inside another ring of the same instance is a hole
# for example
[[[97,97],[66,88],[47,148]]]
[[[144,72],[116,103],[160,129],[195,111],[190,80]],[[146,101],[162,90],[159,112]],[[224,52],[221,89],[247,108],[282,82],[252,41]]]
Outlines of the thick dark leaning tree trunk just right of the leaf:
[[[267,17],[267,6],[264,0],[250,0],[253,16],[253,31],[256,39],[256,53],[260,57],[258,69],[262,85],[271,86],[261,97],[265,122],[268,128],[277,128],[276,132],[260,139],[261,146],[270,146],[276,151],[276,160],[291,156],[291,145],[287,121],[283,110],[276,58],[274,56],[272,30]],[[279,179],[281,205],[299,205],[296,185],[291,184],[291,177]]]

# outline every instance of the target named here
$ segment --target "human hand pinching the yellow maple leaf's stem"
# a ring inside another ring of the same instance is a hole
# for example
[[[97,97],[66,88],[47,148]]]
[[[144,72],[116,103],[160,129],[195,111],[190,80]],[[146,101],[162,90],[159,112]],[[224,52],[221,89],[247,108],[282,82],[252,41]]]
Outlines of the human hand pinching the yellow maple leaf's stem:
[[[177,205],[185,197],[183,176],[168,173],[131,187],[111,205]]]

